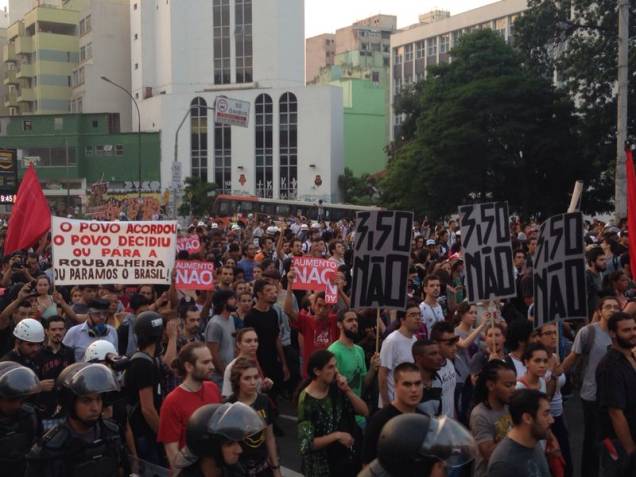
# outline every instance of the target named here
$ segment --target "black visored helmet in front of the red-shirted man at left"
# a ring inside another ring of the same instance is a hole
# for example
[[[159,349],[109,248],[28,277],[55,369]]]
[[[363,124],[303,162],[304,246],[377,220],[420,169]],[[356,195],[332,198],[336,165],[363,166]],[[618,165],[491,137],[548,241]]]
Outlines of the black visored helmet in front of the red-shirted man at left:
[[[197,457],[219,458],[222,443],[243,441],[265,427],[256,411],[241,402],[207,404],[190,416],[186,444]]]

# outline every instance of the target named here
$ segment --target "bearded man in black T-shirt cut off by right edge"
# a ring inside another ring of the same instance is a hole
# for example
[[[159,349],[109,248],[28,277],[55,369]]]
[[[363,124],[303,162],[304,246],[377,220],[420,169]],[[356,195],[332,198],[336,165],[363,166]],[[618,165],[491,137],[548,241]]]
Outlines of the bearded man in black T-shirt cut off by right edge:
[[[601,434],[601,475],[636,474],[636,320],[614,313],[607,328],[612,347],[596,369]]]

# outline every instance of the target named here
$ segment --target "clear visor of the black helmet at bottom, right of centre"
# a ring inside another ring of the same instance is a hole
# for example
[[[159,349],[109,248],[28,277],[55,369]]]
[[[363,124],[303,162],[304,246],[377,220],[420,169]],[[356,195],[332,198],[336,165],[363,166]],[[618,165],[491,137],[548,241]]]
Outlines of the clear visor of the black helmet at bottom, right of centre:
[[[445,416],[432,417],[420,454],[443,460],[450,469],[457,469],[475,459],[477,444],[470,432],[457,421]]]

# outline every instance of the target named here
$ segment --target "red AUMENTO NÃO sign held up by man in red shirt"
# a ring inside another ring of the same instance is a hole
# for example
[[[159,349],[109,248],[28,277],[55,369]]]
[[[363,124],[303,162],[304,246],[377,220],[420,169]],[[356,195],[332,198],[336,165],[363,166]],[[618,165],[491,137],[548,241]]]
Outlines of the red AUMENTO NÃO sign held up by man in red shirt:
[[[333,284],[338,271],[336,262],[324,258],[294,257],[292,266],[296,271],[293,290],[324,291],[325,302],[338,303],[338,287]]]

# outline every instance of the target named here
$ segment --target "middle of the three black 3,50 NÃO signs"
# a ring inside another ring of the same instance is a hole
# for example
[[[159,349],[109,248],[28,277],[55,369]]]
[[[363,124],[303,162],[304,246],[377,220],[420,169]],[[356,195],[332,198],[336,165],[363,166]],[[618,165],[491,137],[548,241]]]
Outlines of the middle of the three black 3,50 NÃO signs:
[[[516,295],[507,202],[459,207],[468,301]]]

